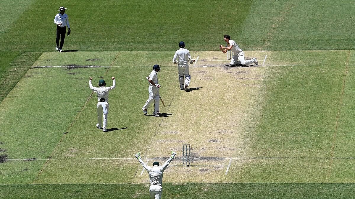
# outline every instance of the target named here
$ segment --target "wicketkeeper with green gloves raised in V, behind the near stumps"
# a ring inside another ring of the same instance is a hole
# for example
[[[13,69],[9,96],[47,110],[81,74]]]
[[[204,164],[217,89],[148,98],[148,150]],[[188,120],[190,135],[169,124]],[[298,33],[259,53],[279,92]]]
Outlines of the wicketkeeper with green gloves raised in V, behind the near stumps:
[[[149,193],[151,195],[151,199],[160,199],[162,197],[163,172],[170,164],[171,160],[174,159],[175,155],[176,153],[172,151],[170,158],[166,160],[166,162],[162,166],[159,166],[158,162],[154,162],[153,167],[150,167],[141,159],[141,152],[136,153],[135,156],[137,160],[143,165],[144,169],[147,170],[149,175],[149,180],[151,182],[151,186],[149,187]]]

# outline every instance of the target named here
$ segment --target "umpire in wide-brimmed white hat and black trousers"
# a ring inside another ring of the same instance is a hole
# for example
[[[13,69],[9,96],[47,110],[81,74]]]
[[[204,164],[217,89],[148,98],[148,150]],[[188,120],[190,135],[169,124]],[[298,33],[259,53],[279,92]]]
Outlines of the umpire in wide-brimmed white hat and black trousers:
[[[63,6],[60,7],[58,10],[58,12],[60,11],[60,13],[58,13],[54,17],[54,23],[57,24],[57,38],[55,40],[57,43],[57,46],[55,47],[55,50],[58,50],[59,52],[63,52],[62,47],[64,44],[66,27],[68,27],[68,35],[70,34],[70,25],[69,25],[68,15],[64,13],[66,9],[67,8],[65,8]],[[59,46],[59,39],[61,39],[60,46]]]

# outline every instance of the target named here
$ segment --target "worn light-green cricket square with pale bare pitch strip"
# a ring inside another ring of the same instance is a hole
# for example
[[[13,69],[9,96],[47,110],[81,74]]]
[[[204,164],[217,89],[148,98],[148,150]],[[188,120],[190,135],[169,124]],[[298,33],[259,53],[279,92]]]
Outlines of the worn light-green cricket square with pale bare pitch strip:
[[[179,90],[176,66],[166,58],[173,53],[69,52],[65,63],[58,57],[64,53],[43,53],[0,107],[3,154],[37,160],[1,163],[1,182],[145,183],[147,173],[141,175],[133,154],[141,151],[143,161],[162,164],[171,150],[178,155],[165,182],[354,182],[354,176],[345,175],[354,162],[351,148],[339,148],[350,146],[345,115],[351,104],[344,102],[352,93],[352,51],[246,51],[259,61],[250,67],[225,66],[221,52],[192,51],[198,60],[190,65],[189,92]],[[144,62],[137,62],[137,56],[144,56]],[[344,62],[334,65],[335,58]],[[160,94],[166,105],[159,118],[141,112],[147,99],[145,76],[155,63],[162,66]],[[312,74],[320,85],[308,78]],[[117,79],[107,133],[95,128],[97,99],[88,88],[89,76],[93,83],[105,78],[108,86],[109,77]],[[324,93],[332,93],[323,99],[326,108],[316,106],[322,86]],[[38,95],[45,100],[36,102]],[[326,116],[290,116],[289,107],[316,107],[313,111]],[[297,123],[278,122],[285,118]],[[291,128],[307,125],[322,136]],[[285,133],[268,134],[278,131]],[[182,167],[184,143],[191,144],[192,167]]]

